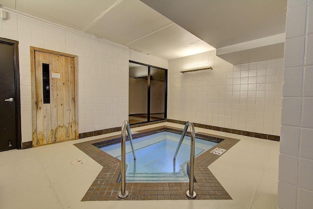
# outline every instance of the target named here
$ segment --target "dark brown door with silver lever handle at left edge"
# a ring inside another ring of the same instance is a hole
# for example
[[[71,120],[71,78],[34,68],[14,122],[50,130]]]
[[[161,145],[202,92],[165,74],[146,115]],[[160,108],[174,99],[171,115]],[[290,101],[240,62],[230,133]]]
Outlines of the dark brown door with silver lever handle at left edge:
[[[0,151],[19,147],[15,47],[0,40]]]

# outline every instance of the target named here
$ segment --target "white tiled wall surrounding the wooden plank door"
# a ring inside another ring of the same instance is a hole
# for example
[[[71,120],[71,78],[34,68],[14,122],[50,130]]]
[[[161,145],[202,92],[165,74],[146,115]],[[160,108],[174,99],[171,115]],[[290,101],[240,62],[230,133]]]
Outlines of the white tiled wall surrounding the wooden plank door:
[[[29,46],[78,56],[79,133],[128,119],[127,48],[11,12],[0,22],[0,37],[19,41],[22,142],[32,141]]]

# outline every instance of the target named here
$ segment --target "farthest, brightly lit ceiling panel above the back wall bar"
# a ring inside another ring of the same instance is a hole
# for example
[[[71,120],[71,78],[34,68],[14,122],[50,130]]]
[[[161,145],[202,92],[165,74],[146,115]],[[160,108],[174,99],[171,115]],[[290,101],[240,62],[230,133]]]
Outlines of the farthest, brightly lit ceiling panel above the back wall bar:
[[[212,46],[177,24],[165,27],[127,46],[167,60],[214,50]]]

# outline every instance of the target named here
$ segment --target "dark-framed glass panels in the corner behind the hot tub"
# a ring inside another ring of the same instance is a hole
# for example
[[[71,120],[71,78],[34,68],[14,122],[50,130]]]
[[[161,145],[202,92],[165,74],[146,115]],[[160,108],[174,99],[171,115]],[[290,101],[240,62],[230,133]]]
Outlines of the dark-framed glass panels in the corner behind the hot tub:
[[[167,69],[129,63],[129,123],[166,119]]]

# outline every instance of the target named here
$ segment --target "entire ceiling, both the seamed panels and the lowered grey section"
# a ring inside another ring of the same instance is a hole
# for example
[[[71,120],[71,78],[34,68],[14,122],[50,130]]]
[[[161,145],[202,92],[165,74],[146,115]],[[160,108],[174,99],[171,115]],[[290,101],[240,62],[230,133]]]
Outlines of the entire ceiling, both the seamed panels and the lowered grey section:
[[[287,0],[141,1],[0,0],[0,5],[167,60],[285,32]]]

